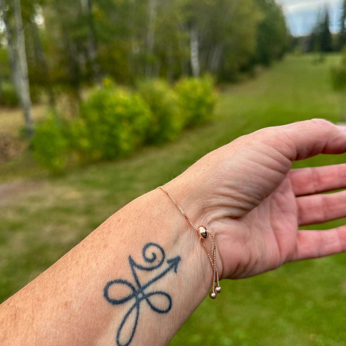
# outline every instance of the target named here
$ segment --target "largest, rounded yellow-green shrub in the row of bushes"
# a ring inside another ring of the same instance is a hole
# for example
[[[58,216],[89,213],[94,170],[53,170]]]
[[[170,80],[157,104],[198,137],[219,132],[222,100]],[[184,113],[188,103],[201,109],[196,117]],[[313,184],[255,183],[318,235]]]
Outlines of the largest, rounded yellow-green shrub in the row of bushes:
[[[126,156],[144,142],[151,116],[139,95],[113,86],[95,90],[81,105],[78,147],[91,160]]]

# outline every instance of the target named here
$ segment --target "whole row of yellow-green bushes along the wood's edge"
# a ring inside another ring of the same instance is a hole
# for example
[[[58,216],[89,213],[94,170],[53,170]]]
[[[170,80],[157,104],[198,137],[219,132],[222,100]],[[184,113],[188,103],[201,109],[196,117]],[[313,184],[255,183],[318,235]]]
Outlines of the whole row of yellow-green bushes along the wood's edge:
[[[81,103],[78,118],[54,113],[37,125],[34,155],[54,172],[71,160],[122,158],[141,145],[174,140],[183,128],[209,121],[215,101],[209,76],[184,78],[174,88],[162,80],[144,81],[135,92],[106,80]]]

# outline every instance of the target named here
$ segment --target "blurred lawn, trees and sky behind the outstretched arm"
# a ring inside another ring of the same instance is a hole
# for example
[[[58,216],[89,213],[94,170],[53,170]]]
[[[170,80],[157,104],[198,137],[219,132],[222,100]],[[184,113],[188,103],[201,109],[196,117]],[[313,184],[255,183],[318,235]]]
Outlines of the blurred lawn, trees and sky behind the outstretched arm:
[[[345,44],[346,0],[0,0],[0,302],[207,152],[345,122]],[[225,282],[170,345],[345,346],[345,263]]]

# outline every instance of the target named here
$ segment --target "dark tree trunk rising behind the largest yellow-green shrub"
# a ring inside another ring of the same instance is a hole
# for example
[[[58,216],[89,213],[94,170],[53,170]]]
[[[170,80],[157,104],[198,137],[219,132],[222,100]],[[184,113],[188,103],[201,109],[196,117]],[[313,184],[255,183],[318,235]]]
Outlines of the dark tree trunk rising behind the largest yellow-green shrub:
[[[91,0],[81,0],[82,10],[86,13],[89,26],[89,42],[88,42],[88,58],[92,67],[93,80],[96,84],[102,84],[101,69],[97,61],[97,39],[94,17],[92,14],[92,2]]]

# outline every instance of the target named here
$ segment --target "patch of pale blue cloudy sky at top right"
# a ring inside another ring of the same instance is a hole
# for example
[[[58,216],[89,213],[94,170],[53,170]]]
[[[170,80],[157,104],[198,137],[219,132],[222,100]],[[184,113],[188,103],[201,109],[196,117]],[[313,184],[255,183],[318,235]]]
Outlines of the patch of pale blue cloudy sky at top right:
[[[325,5],[330,10],[331,30],[337,31],[342,0],[276,0],[281,3],[291,33],[295,36],[307,35],[316,24],[319,10]]]

